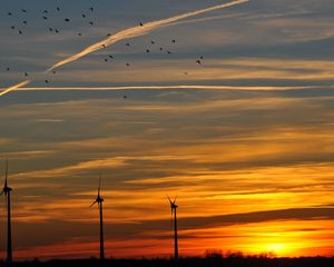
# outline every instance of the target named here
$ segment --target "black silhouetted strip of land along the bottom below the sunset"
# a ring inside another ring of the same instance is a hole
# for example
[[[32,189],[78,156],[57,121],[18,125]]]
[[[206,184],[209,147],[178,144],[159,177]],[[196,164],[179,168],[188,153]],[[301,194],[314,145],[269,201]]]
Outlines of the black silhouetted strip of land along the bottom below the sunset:
[[[1,266],[6,264],[1,263]],[[177,263],[173,259],[69,259],[40,261],[18,261],[10,266],[16,267],[331,267],[334,257],[313,258],[262,258],[262,257],[194,257],[180,258]]]

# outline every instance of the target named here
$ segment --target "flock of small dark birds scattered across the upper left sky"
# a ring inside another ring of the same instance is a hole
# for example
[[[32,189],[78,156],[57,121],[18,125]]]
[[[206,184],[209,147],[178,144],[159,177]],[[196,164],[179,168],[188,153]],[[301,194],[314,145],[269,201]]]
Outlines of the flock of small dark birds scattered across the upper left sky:
[[[89,26],[94,26],[95,24],[95,21],[94,21],[94,13],[96,11],[96,7],[89,7],[87,10],[85,10],[84,12],[80,13],[80,18],[87,22],[87,24]],[[14,32],[17,32],[19,36],[22,36],[24,34],[24,30],[23,29],[28,29],[28,20],[27,18],[24,17],[29,11],[27,9],[19,9],[17,10],[16,12],[13,11],[8,11],[7,12],[7,16],[12,18],[12,19],[17,19],[16,20],[16,24],[12,24],[10,26],[10,29]],[[55,7],[53,9],[45,9],[42,11],[40,11],[40,19],[43,21],[43,23],[47,23],[47,21],[49,21],[49,19],[53,16],[53,14],[57,14],[57,18],[61,17],[62,16],[62,8],[61,7]],[[23,18],[22,18],[23,16]],[[21,20],[20,22],[18,22],[18,20]],[[61,20],[63,21],[65,24],[70,24],[72,22],[72,19],[69,18],[69,17],[65,17],[65,18],[61,18]],[[11,20],[10,20],[11,21]],[[11,21],[12,22],[12,21]],[[19,24],[19,27],[18,27]],[[139,26],[140,27],[144,27],[144,22],[139,22]],[[49,33],[56,33],[56,34],[59,34],[61,32],[61,30],[57,27],[47,27],[47,32]],[[80,31],[80,32],[77,32],[76,33],[77,36],[79,37],[82,37],[84,33]],[[111,33],[108,33],[107,37],[111,37]],[[171,44],[175,44],[177,41],[175,39],[170,40],[170,43]],[[126,47],[131,47],[131,43],[130,42],[126,42],[125,43]],[[157,42],[151,40],[150,41],[150,47],[147,48],[145,50],[146,53],[151,53],[153,52],[153,46],[156,46],[157,47],[157,50],[159,52],[165,52],[167,55],[171,55],[173,52],[168,49],[165,49],[164,47],[158,47],[157,46]],[[102,48],[107,48],[107,46],[102,44]],[[111,61],[111,60],[115,60],[115,56],[114,55],[107,55],[107,56],[104,56],[104,61],[105,62],[108,62],[108,61]],[[203,63],[203,60],[204,60],[204,57],[203,56],[199,56],[195,63],[197,65],[202,65]],[[126,62],[126,67],[130,67],[131,63],[130,62]],[[10,67],[6,67],[6,70],[7,71],[10,71],[11,68]],[[22,73],[26,78],[30,76],[30,73],[28,71],[24,71]],[[56,75],[56,70],[52,71],[52,75]],[[184,72],[184,75],[188,76],[189,73],[187,71]],[[45,80],[45,83],[50,83],[50,80],[49,79],[46,79]]]

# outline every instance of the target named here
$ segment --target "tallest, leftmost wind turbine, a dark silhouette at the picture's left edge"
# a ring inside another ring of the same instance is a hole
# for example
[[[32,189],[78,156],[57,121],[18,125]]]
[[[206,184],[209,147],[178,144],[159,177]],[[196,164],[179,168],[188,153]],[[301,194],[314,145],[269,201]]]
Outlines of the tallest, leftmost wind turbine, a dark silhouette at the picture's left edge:
[[[12,248],[11,248],[11,214],[10,214],[10,192],[12,188],[8,187],[8,160],[6,161],[6,176],[4,186],[0,196],[4,195],[7,206],[7,263],[12,263]]]

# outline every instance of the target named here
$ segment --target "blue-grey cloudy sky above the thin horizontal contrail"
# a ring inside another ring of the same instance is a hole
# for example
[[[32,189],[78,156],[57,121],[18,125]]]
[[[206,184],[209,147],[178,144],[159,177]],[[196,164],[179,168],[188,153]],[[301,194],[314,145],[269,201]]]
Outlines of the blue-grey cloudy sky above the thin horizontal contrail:
[[[29,9],[24,1],[4,4],[7,7],[1,14],[4,23],[1,23],[1,28],[6,38],[0,43],[1,66],[2,69],[10,67],[11,71],[2,71],[1,87],[24,79],[26,71],[31,77],[35,72],[42,72],[60,59],[105,39],[107,33],[137,26],[139,21],[164,19],[218,3],[173,0],[168,3],[140,1],[140,4],[138,1],[81,1],[78,7],[76,1],[66,4],[48,2],[45,6],[40,1],[30,2]],[[57,6],[61,6],[61,14],[55,11]],[[91,6],[96,7],[94,13],[88,11]],[[28,10],[27,16],[20,12],[21,7]],[[41,18],[45,9],[50,10],[47,21]],[[121,41],[61,68],[57,77],[39,76],[32,87],[43,87],[45,79],[52,80],[56,87],[223,82],[259,86],[271,85],[272,80],[281,85],[326,85],[331,82],[331,77],[304,80],[298,76],[327,71],[324,69],[326,66],[318,69],[313,61],[333,56],[331,9],[327,1],[322,1],[322,4],[315,4],[314,1],[303,1],[303,4],[299,1],[252,1],[136,38],[130,41],[130,48],[125,46],[126,40]],[[9,18],[6,10],[13,12],[13,17]],[[82,19],[81,13],[87,13],[88,18]],[[70,18],[71,23],[66,23],[65,18]],[[23,20],[29,22],[28,27],[22,26]],[[90,27],[89,21],[94,21],[95,26]],[[11,26],[22,29],[23,34],[19,36],[17,30],[11,30]],[[49,27],[59,28],[61,33],[49,33]],[[79,32],[82,37],[77,36]],[[171,39],[177,39],[175,46],[171,46]],[[151,46],[150,40],[157,44]],[[159,52],[158,47],[173,50],[174,53],[168,57]],[[151,53],[145,52],[147,48]],[[104,60],[108,55],[114,55],[116,60],[106,63]],[[205,68],[196,66],[198,56],[206,58]],[[128,61],[131,68],[126,68]],[[258,66],[254,66],[254,61],[258,61]],[[220,66],[225,71],[217,72]],[[250,77],[249,71],[254,72],[254,68],[258,68],[259,73]],[[239,70],[240,76],[235,77],[229,70]],[[264,70],[272,71],[266,73]],[[213,71],[214,75],[208,73]],[[184,72],[194,76],[185,77]],[[289,73],[295,73],[295,77]]]

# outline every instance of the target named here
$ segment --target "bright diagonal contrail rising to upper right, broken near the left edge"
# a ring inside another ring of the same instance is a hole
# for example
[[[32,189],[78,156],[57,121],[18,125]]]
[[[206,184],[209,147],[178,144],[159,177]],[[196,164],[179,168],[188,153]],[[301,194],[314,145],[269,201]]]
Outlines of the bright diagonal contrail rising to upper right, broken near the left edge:
[[[184,13],[184,14],[178,14],[178,16],[175,16],[175,17],[171,17],[171,18],[168,18],[168,19],[150,21],[150,22],[147,22],[143,26],[131,27],[131,28],[121,30],[121,31],[108,37],[107,39],[105,39],[102,41],[96,42],[95,44],[87,47],[86,49],[84,49],[82,51],[80,51],[76,55],[72,55],[72,56],[70,56],[70,57],[68,57],[63,60],[60,60],[59,62],[51,66],[46,72],[52,71],[52,70],[55,70],[55,69],[57,69],[61,66],[73,62],[73,61],[76,61],[76,60],[78,60],[78,59],[80,59],[80,58],[82,58],[82,57],[85,57],[85,56],[87,56],[91,52],[95,52],[95,51],[100,50],[102,48],[109,47],[109,46],[111,46],[111,44],[114,44],[118,41],[135,38],[135,37],[139,37],[139,36],[145,36],[145,34],[147,34],[147,33],[149,33],[149,32],[151,32],[156,29],[170,26],[170,24],[173,24],[173,23],[175,23],[179,20],[183,20],[183,19],[187,19],[187,18],[190,18],[190,17],[195,17],[195,16],[198,16],[198,14],[207,13],[207,12],[219,10],[219,9],[225,9],[225,8],[228,8],[228,7],[233,7],[233,6],[249,2],[249,1],[250,0],[235,0],[235,1],[232,1],[232,2],[228,2],[228,3],[223,3],[223,4],[214,6],[214,7],[210,7],[210,8],[200,9],[200,10],[197,10],[197,11],[191,11],[191,12],[187,12],[187,13]],[[16,85],[16,86],[7,88],[2,92],[0,92],[0,97],[4,96],[6,93],[8,93],[12,90],[16,90],[18,88],[27,86],[30,82],[31,82],[31,80],[26,80],[26,81],[22,81],[22,82]]]

